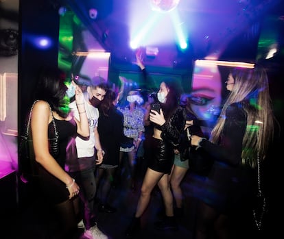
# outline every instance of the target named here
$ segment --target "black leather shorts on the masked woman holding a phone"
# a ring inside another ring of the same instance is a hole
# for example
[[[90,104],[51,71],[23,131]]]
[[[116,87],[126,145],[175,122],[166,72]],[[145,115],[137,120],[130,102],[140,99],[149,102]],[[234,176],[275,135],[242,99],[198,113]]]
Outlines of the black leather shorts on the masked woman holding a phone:
[[[174,148],[164,140],[153,137],[145,140],[145,158],[148,167],[160,173],[171,173],[171,166],[174,164]]]

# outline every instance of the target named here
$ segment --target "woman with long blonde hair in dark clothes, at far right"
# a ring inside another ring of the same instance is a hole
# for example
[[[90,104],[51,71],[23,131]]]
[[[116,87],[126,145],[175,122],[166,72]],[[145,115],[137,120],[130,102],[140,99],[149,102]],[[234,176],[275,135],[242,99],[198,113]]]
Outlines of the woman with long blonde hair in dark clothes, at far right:
[[[235,68],[226,81],[230,91],[209,140],[191,136],[214,159],[198,211],[195,238],[233,238],[230,219],[249,208],[257,190],[258,163],[273,136],[274,116],[265,69]],[[236,225],[235,225],[236,226]]]

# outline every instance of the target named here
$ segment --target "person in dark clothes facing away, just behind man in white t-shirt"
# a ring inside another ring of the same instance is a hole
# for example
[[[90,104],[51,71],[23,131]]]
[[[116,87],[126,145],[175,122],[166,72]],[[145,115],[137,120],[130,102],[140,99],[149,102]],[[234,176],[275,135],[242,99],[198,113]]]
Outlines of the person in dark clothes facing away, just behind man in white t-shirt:
[[[99,105],[99,132],[104,161],[97,168],[97,198],[99,198],[99,212],[116,212],[116,208],[108,203],[108,194],[115,180],[115,170],[119,166],[119,149],[123,134],[123,114],[117,110],[118,94],[108,90]]]

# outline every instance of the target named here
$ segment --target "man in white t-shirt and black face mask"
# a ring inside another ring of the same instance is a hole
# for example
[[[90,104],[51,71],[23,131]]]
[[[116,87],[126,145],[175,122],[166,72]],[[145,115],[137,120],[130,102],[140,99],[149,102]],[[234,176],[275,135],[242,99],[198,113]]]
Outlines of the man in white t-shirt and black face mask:
[[[80,86],[80,77],[75,77],[75,82]],[[84,84],[87,84],[84,81]],[[102,77],[93,77],[84,92],[85,96],[85,109],[88,117],[88,125],[90,127],[89,138],[80,138],[77,136],[75,142],[69,144],[67,147],[67,163],[66,171],[75,179],[80,186],[80,199],[84,204],[83,221],[86,231],[84,236],[86,238],[107,238],[97,227],[94,215],[94,199],[96,193],[95,183],[95,166],[102,164],[104,158],[101,143],[99,141],[99,133],[97,131],[97,121],[99,118],[99,110],[97,107],[104,99],[108,84]],[[75,101],[69,104],[75,118],[79,119],[79,114]],[[97,155],[95,155],[97,153]]]

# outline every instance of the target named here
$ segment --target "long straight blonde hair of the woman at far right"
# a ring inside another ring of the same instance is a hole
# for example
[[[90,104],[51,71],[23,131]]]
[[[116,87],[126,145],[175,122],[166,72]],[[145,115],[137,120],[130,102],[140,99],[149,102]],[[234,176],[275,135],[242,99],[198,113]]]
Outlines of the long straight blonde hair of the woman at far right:
[[[257,155],[259,154],[260,160],[265,158],[265,153],[273,137],[274,116],[269,95],[268,77],[265,69],[260,66],[252,69],[235,68],[232,71],[232,76],[235,79],[235,85],[224,103],[217,124],[211,132],[210,140],[214,143],[219,142],[226,121],[225,113],[228,105],[241,103],[247,114],[241,163],[255,168]]]

